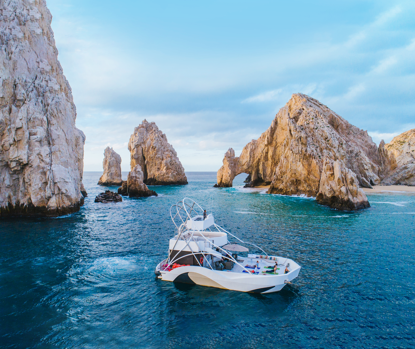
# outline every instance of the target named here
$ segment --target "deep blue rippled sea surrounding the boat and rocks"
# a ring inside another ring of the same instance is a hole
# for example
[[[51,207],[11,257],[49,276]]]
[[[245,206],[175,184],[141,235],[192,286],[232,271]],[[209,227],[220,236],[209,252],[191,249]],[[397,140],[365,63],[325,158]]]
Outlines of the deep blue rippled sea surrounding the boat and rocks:
[[[76,214],[0,219],[1,348],[415,347],[415,194],[344,213],[243,189],[244,174],[212,188],[216,172],[188,172],[186,186],[150,187],[159,197],[101,204],[100,174],[84,172]],[[183,197],[295,260],[298,278],[267,295],[157,279]]]

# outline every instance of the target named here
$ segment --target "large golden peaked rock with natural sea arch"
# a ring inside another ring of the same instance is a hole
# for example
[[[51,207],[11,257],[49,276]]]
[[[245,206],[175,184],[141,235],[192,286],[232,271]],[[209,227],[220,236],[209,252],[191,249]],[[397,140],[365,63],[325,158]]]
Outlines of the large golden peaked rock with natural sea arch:
[[[379,184],[393,162],[388,150],[383,145],[377,147],[367,131],[351,125],[316,99],[295,93],[278,111],[268,130],[248,143],[239,157],[235,157],[232,148],[226,152],[217,172],[217,186],[231,187],[234,177],[245,172],[251,174],[251,186],[270,184],[268,193],[316,197],[323,166],[327,169],[329,160],[340,160],[342,171],[346,171],[341,181],[356,178],[353,186],[358,187]],[[339,198],[342,204],[330,204],[335,200],[327,199],[323,202],[330,190],[321,192],[322,203],[338,209],[366,206],[366,195],[358,190],[349,193],[357,202],[346,199],[350,198],[347,194]],[[353,204],[347,206],[345,202]]]

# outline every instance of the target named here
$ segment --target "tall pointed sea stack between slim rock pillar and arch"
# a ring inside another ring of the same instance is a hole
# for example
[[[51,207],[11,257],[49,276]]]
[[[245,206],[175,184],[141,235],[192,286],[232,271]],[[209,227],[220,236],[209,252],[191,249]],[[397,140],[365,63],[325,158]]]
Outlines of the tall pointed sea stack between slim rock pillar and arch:
[[[147,185],[188,184],[176,151],[154,122],[144,119],[134,128],[128,143],[131,170],[140,165]]]

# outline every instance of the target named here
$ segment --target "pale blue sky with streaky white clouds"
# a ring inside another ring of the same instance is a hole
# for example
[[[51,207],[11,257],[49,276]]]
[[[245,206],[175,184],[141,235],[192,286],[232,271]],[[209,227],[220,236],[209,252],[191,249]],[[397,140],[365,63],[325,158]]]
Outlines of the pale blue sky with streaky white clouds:
[[[374,142],[415,128],[414,1],[47,0],[58,59],[86,135],[129,171],[142,120],[186,171],[239,155],[293,93],[318,99]]]

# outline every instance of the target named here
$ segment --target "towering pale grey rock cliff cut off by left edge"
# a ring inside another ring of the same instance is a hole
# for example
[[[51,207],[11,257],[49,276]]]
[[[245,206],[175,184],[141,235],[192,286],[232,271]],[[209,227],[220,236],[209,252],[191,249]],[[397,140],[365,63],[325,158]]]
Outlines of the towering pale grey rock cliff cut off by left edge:
[[[0,6],[0,214],[78,211],[85,135],[75,127],[51,13],[44,0]]]

